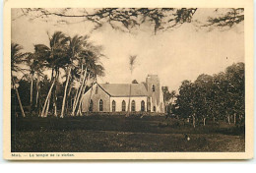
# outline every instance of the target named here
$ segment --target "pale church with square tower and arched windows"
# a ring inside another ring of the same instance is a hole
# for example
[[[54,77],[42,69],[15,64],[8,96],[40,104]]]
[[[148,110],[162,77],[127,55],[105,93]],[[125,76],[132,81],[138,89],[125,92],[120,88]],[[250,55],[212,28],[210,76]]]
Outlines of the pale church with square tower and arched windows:
[[[130,100],[130,105],[129,105]],[[142,84],[95,84],[82,98],[82,112],[164,112],[158,75]]]

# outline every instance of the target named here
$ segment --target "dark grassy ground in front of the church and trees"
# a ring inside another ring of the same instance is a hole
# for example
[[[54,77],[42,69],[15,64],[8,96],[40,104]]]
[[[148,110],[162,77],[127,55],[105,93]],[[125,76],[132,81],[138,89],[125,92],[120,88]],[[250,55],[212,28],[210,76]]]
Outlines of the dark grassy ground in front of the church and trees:
[[[180,123],[182,122],[182,123]],[[165,117],[90,116],[16,119],[12,151],[244,151],[243,133],[225,122],[195,129]],[[186,141],[184,134],[190,137]]]

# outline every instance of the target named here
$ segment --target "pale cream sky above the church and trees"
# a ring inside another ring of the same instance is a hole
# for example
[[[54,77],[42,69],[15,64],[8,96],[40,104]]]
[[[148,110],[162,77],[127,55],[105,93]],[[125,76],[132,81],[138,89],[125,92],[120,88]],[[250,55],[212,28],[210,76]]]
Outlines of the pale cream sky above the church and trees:
[[[194,20],[204,21],[214,15],[214,9],[198,9]],[[20,9],[12,10],[12,41],[24,51],[33,51],[33,44],[48,45],[47,32],[61,30],[70,36],[90,34],[90,40],[103,47],[101,59],[105,76],[98,83],[127,84],[132,80],[145,82],[146,77],[158,75],[160,85],[178,90],[181,82],[192,82],[201,74],[213,75],[237,62],[244,62],[243,23],[232,29],[199,29],[194,23],[177,29],[154,33],[142,26],[132,33],[111,29],[105,25],[91,32],[92,24],[57,25],[55,17],[47,23],[19,17]],[[132,77],[129,56],[137,55]]]

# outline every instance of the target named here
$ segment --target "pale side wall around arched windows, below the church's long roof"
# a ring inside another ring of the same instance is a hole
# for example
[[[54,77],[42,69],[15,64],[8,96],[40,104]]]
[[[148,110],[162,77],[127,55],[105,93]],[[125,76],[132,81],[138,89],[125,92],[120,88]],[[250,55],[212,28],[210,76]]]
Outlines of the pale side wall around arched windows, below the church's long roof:
[[[128,110],[128,102],[129,102],[129,97],[110,97],[110,111],[112,112],[112,101],[115,101],[115,111],[120,112],[122,111],[122,101],[124,100],[126,103],[125,106],[125,111]],[[133,97],[131,96],[130,98],[130,110],[132,108],[132,100],[135,101],[135,111],[141,111],[141,102],[144,100],[145,102],[145,111],[147,111],[147,96],[136,96]]]

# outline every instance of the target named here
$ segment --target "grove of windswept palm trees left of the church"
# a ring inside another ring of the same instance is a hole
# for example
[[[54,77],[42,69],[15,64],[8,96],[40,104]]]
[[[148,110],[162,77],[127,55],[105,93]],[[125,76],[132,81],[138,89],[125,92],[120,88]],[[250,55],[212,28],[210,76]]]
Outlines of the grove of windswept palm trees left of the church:
[[[88,35],[75,35],[70,38],[61,31],[55,31],[49,36],[49,46],[35,44],[32,53],[22,53],[22,46],[12,43],[12,72],[22,75],[22,80],[12,76],[13,83],[16,83],[13,85],[19,86],[17,91],[21,92],[21,102],[24,101],[26,106],[28,105],[28,95],[31,94],[31,114],[34,111],[39,113],[42,109],[41,115],[47,116],[48,109],[54,109],[54,115],[57,116],[64,92],[68,100],[63,99],[63,104],[65,105],[67,102],[71,106],[72,99],[75,97],[74,86],[80,82],[82,77],[85,77],[86,80],[96,80],[97,76],[104,75],[104,68],[99,61],[103,56],[101,47],[90,43],[88,37]],[[23,66],[25,68],[22,68]],[[60,73],[63,70],[64,74]],[[51,77],[44,76],[43,72],[46,71],[51,71]],[[70,83],[67,81],[68,74]],[[34,75],[36,75],[36,80],[34,80]],[[61,78],[60,75],[62,75]],[[61,82],[62,78],[66,78],[66,81]],[[64,90],[64,85],[69,88]],[[82,94],[86,85],[86,83],[81,84],[80,92]],[[36,91],[32,92],[32,90]],[[53,104],[47,103],[51,100]],[[81,100],[80,97],[78,100]],[[15,106],[14,104],[12,105]]]

